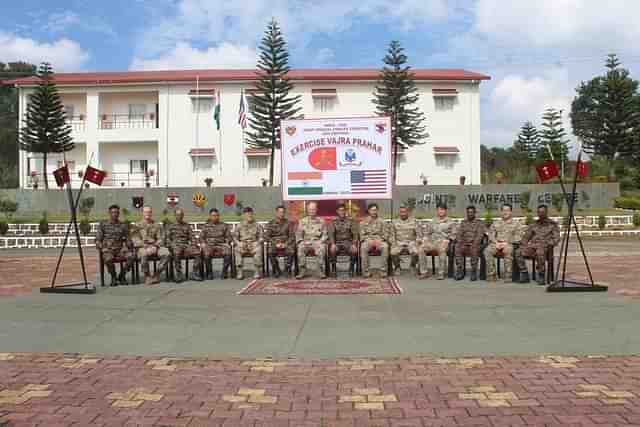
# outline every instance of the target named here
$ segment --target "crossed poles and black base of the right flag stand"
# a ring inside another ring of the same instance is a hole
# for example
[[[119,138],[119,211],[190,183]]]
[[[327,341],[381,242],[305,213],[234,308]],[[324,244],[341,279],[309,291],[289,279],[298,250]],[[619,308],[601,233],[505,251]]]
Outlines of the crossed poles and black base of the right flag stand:
[[[551,150],[549,150],[549,152],[551,152]],[[582,238],[580,237],[580,230],[578,229],[578,224],[576,223],[575,201],[576,201],[576,191],[577,191],[577,184],[578,184],[578,167],[581,161],[581,156],[582,156],[582,150],[578,152],[578,159],[576,161],[576,171],[573,177],[573,184],[572,184],[570,195],[569,193],[567,193],[567,189],[564,185],[564,180],[562,176],[558,177],[560,181],[560,188],[562,189],[562,193],[564,195],[565,200],[567,201],[567,205],[569,209],[569,212],[568,212],[569,224],[566,226],[566,229],[564,230],[564,233],[563,233],[564,235],[562,237],[562,245],[560,247],[560,257],[558,259],[558,265],[556,267],[556,272],[555,272],[555,281],[549,286],[547,286],[547,292],[606,292],[609,289],[608,286],[598,285],[593,281],[593,275],[591,274],[591,267],[589,266],[587,254],[584,250]],[[576,238],[578,239],[580,252],[582,253],[582,259],[584,260],[585,267],[587,268],[587,273],[589,274],[589,282],[580,282],[577,280],[571,280],[566,278],[568,252],[569,252],[569,240],[571,238],[572,226],[575,230]],[[562,266],[562,276],[560,276],[561,266]]]

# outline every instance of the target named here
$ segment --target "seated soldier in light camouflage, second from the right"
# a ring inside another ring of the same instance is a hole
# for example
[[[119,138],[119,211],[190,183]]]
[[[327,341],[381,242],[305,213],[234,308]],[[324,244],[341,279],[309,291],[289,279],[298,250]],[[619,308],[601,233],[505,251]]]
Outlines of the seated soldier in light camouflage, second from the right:
[[[504,258],[505,282],[511,282],[514,249],[513,244],[520,242],[521,226],[513,219],[513,207],[505,203],[502,205],[502,219],[489,227],[489,245],[484,250],[487,260],[487,280],[495,282],[496,254],[501,253]]]

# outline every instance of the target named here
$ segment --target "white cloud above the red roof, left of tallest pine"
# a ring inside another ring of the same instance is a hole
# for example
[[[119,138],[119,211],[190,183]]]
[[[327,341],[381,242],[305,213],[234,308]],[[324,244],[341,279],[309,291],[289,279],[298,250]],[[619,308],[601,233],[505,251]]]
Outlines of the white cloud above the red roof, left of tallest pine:
[[[248,46],[222,43],[217,47],[197,49],[180,42],[157,58],[134,58],[132,70],[174,70],[198,68],[254,68],[257,53]]]

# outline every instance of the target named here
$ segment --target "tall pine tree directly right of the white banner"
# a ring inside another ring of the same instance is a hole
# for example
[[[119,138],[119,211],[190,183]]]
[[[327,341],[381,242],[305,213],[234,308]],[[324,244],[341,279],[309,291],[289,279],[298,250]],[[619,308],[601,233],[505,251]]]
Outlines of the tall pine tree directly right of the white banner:
[[[391,117],[395,182],[398,149],[424,144],[429,134],[424,124],[425,116],[415,106],[419,99],[418,88],[411,67],[406,65],[407,55],[400,42],[394,40],[389,44],[383,62],[385,65],[380,71],[372,102],[376,105],[377,114]]]

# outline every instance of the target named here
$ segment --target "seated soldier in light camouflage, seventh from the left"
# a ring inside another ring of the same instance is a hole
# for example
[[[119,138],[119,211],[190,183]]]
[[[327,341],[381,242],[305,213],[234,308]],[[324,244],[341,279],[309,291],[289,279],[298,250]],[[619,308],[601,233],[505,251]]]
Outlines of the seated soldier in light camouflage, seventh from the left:
[[[327,277],[324,271],[325,243],[327,242],[327,226],[322,218],[317,217],[318,205],[310,202],[307,205],[307,216],[300,220],[296,230],[298,245],[298,275],[296,279],[303,279],[306,272],[307,251],[313,249],[320,264],[320,278]]]

